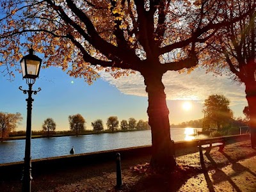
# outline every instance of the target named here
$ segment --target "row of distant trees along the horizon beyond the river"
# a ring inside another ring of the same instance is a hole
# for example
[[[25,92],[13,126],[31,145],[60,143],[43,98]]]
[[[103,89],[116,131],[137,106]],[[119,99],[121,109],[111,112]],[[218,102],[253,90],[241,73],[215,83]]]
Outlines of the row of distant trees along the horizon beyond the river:
[[[237,133],[237,128],[241,126],[249,125],[249,108],[244,107],[243,113],[245,118],[234,118],[233,111],[229,108],[230,100],[224,95],[210,95],[204,101],[204,118],[198,120],[190,120],[182,122],[180,124],[171,124],[171,128],[203,128],[204,131],[213,134],[232,134]],[[9,136],[10,132],[13,135],[24,135],[25,131],[15,132],[15,128],[22,116],[20,113],[4,113],[0,112],[0,140]],[[81,114],[69,115],[68,122],[70,125],[70,131],[64,131],[63,134],[84,134],[86,132],[86,120]],[[118,121],[117,116],[109,116],[106,122],[106,129],[101,119],[97,119],[92,122],[93,132],[116,132],[116,131],[132,131],[132,130],[148,130],[150,125],[147,121],[136,120],[135,118],[129,118],[128,120]],[[212,130],[215,132],[212,133]],[[234,131],[236,130],[236,131]],[[87,131],[88,132],[88,131]],[[46,118],[42,124],[42,131],[33,131],[33,134],[47,134],[47,137],[56,133],[56,122],[52,118]]]

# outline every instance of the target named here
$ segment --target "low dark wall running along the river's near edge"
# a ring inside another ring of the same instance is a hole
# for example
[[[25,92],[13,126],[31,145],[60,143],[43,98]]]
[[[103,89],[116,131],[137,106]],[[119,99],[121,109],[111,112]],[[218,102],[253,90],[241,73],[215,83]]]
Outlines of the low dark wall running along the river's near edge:
[[[250,134],[242,134],[235,136],[224,136],[220,137],[225,139],[225,142],[235,143],[237,140],[246,140],[250,138]],[[209,139],[204,139],[209,140]],[[193,140],[193,141],[178,141],[175,142],[175,150],[180,150],[182,148],[196,147],[198,141],[202,140]],[[131,147],[131,148],[120,148],[115,150],[106,150],[100,152],[92,152],[85,154],[73,154],[69,156],[60,156],[60,157],[49,157],[44,159],[33,159],[32,172],[33,175],[40,174],[44,172],[54,172],[54,170],[65,169],[70,167],[78,167],[81,165],[90,166],[90,164],[99,164],[109,161],[115,162],[116,153],[121,154],[121,159],[129,159],[140,156],[150,156],[152,152],[152,146],[142,146],[142,147]],[[0,179],[17,179],[22,177],[23,161],[15,163],[5,163],[0,164]]]

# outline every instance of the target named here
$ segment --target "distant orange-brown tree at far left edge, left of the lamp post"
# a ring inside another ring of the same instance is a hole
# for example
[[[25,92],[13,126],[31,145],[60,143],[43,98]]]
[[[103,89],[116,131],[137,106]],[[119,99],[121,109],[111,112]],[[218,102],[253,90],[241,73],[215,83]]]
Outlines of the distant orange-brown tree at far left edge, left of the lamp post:
[[[17,124],[22,120],[20,113],[0,112],[0,134],[1,141],[6,138],[10,132],[15,131]]]

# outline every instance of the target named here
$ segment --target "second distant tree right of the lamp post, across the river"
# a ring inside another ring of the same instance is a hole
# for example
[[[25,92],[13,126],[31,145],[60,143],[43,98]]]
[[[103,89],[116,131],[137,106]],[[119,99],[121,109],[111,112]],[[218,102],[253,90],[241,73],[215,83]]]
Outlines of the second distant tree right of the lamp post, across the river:
[[[78,133],[81,133],[85,130],[86,121],[84,120],[83,116],[80,114],[69,115],[68,122],[70,125],[70,130],[73,132],[76,132],[76,136],[78,136]]]

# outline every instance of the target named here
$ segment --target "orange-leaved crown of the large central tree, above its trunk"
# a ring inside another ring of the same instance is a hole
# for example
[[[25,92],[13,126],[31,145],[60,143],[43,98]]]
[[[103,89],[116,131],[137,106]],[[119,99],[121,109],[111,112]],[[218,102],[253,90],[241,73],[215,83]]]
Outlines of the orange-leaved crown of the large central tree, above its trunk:
[[[19,11],[17,7],[21,4],[1,2],[4,8],[0,9],[7,16],[3,22],[0,20],[3,26],[0,35],[10,37],[1,39],[3,59],[15,63],[32,44],[36,52],[44,54],[44,67],[60,66],[70,76],[84,77],[89,83],[99,76],[95,70],[104,69],[117,78],[133,71],[116,66],[142,70],[148,67],[143,65],[147,60],[181,63],[189,58],[191,41],[202,40],[212,33],[203,27],[209,21],[218,22],[220,16],[215,1],[206,1],[202,10],[202,0],[173,0],[168,6],[156,3],[152,7],[152,1],[145,4],[139,3],[143,1],[72,2],[81,15],[72,12],[63,1],[54,1],[54,5],[28,1],[24,10]],[[150,13],[149,8],[155,13]],[[193,36],[196,30],[200,34]],[[77,47],[72,43],[77,43]],[[163,67],[154,65],[158,66]]]

